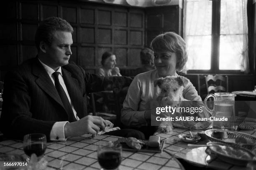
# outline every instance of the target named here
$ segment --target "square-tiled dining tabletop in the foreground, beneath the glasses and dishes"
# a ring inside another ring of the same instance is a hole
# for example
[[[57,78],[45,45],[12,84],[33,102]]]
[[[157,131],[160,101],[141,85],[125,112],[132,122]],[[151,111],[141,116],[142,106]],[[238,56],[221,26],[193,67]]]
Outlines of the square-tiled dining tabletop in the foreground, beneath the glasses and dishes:
[[[193,130],[196,134],[201,130]],[[256,130],[240,131],[256,136]],[[156,133],[165,141],[162,153],[145,153],[123,151],[123,161],[120,170],[179,170],[182,165],[176,158],[182,158],[187,162],[218,170],[249,170],[246,167],[239,167],[225,163],[214,156],[205,153],[206,147],[189,149],[187,143],[182,142],[178,135],[189,134],[189,130],[174,128],[169,133]],[[97,135],[96,138],[87,138],[86,135],[76,138],[69,138],[66,142],[47,143],[45,155],[49,161],[49,169],[100,169],[97,161],[97,145],[106,141],[115,141],[120,137],[109,135]],[[207,141],[200,141],[197,144],[205,144]],[[18,140],[6,140],[0,142],[0,153],[15,153],[25,156],[23,144]],[[173,155],[176,157],[172,158]]]

